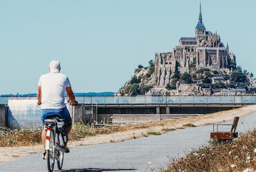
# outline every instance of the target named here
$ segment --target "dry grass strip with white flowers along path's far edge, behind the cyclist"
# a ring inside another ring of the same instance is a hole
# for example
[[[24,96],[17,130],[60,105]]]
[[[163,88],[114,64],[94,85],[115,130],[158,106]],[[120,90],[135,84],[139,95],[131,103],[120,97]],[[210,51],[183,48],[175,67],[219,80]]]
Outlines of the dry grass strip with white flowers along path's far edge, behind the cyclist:
[[[73,124],[71,133],[69,133],[68,139],[71,141],[80,140],[86,136],[96,136],[98,134],[109,134],[118,131],[129,131],[134,129],[147,129],[154,126],[165,126],[172,124],[175,122],[175,120],[176,119],[111,127],[95,127],[94,125],[84,125],[83,122],[75,122]],[[170,131],[172,130],[173,129],[170,129]],[[167,132],[167,129],[163,130],[162,132]],[[149,133],[147,135],[155,134]],[[17,129],[0,127],[0,147],[22,147],[41,143],[41,127],[21,127]]]

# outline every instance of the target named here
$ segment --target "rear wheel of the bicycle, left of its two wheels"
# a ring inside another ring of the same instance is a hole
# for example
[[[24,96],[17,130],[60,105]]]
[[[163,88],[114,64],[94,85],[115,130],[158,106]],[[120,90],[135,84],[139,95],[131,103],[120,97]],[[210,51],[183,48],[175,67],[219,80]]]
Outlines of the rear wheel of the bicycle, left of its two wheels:
[[[54,169],[54,163],[55,163],[55,155],[54,155],[55,137],[54,137],[53,131],[51,131],[51,133],[50,133],[49,144],[50,144],[50,149],[46,151],[47,167],[48,167],[48,171],[52,172]]]

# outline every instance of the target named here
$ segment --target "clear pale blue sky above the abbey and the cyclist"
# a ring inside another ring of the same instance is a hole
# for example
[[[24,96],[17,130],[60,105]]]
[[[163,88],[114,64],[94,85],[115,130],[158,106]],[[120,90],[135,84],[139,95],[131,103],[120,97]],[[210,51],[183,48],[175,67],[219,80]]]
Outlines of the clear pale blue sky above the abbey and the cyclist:
[[[117,92],[138,65],[194,36],[198,0],[0,1],[0,94],[37,92],[52,60],[74,92]],[[256,75],[256,1],[202,0],[206,30],[217,31]]]

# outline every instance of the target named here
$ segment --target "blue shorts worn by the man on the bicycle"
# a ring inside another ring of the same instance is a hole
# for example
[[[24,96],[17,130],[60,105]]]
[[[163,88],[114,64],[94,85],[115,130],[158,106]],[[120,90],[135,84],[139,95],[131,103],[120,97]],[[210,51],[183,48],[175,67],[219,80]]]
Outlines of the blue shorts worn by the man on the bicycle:
[[[66,107],[63,107],[62,109],[41,109],[42,125],[44,125],[44,120],[46,119],[46,116],[51,115],[58,115],[60,116],[60,118],[66,120],[67,123],[70,123],[72,120]]]

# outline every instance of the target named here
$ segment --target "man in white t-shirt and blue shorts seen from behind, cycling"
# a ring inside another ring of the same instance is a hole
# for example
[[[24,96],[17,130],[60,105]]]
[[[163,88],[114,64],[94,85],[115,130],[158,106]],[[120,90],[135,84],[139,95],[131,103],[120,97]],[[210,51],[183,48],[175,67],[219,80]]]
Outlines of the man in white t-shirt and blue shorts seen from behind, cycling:
[[[42,120],[42,142],[45,149],[45,133],[44,133],[44,120],[47,116],[58,115],[60,118],[66,120],[68,123],[67,132],[69,133],[72,128],[71,116],[66,109],[65,92],[71,100],[71,105],[77,105],[75,96],[71,89],[71,83],[68,77],[60,73],[60,62],[51,61],[49,65],[49,73],[40,76],[38,83],[37,105],[41,105],[41,120]],[[65,150],[69,152],[68,147]],[[44,151],[43,158],[45,158],[46,151]]]

